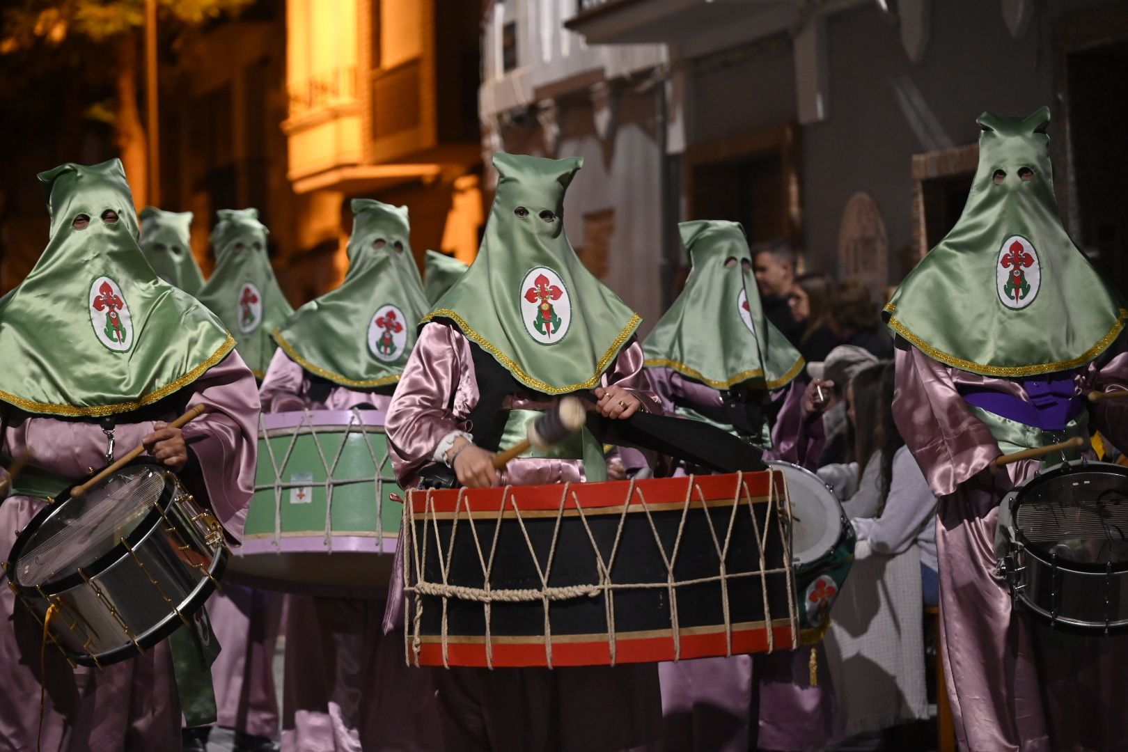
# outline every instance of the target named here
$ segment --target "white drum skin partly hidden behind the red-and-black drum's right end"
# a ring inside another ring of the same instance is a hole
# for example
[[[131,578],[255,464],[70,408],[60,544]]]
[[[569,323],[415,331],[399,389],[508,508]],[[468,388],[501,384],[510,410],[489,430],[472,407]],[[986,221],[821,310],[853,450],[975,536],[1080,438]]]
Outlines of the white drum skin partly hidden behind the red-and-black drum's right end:
[[[812,564],[830,552],[843,534],[841,506],[819,476],[790,462],[768,460],[768,468],[783,470],[791,498],[791,560],[796,567]]]

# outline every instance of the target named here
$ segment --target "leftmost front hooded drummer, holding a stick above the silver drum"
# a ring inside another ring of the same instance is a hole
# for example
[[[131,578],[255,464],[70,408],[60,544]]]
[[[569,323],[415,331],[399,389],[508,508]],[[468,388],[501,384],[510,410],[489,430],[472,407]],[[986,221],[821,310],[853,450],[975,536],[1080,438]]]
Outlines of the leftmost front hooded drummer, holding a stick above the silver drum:
[[[144,443],[238,540],[253,490],[258,396],[231,335],[146,260],[121,161],[62,165],[39,182],[50,241],[0,301],[0,459],[14,470],[0,484],[10,484],[0,537],[10,545],[46,499],[106,465],[107,454]],[[209,412],[183,430],[166,427],[199,404]],[[26,466],[16,474],[14,462]],[[174,654],[191,632],[102,670],[71,669],[52,647],[41,654],[43,627],[9,587],[0,587],[0,609],[7,749],[42,741],[45,752],[176,750],[182,707],[190,720],[206,719],[196,716],[212,698],[178,692],[174,681]]]

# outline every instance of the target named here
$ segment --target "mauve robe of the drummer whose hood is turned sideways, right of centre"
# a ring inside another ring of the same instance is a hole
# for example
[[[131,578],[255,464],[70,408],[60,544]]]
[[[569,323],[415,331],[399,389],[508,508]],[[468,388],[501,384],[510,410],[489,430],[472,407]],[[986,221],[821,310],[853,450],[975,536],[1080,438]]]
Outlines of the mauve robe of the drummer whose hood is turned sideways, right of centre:
[[[677,402],[720,405],[716,389],[672,369],[652,368],[646,373],[669,414]],[[772,431],[775,448],[765,452],[765,459],[796,465],[818,460],[822,422],[801,421],[804,386],[793,382],[773,395],[784,404]],[[843,723],[822,643],[814,649],[822,667],[818,687],[810,685],[811,648],[805,646],[659,664],[667,749],[746,752],[751,745],[808,752],[841,741]]]

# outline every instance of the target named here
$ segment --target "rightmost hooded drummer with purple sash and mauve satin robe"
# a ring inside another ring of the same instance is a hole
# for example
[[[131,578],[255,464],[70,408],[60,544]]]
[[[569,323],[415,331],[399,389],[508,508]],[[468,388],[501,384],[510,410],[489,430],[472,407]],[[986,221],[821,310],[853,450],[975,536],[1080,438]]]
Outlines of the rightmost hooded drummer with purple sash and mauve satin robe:
[[[1128,306],[1061,227],[1049,109],[978,122],[963,214],[884,313],[897,337],[897,426],[938,498],[955,735],[963,750],[1121,749],[1128,638],[1050,631],[1012,609],[996,554],[999,502],[1043,462],[993,461],[1087,437],[1090,423],[1128,448],[1128,400],[1085,399],[1128,388]]]

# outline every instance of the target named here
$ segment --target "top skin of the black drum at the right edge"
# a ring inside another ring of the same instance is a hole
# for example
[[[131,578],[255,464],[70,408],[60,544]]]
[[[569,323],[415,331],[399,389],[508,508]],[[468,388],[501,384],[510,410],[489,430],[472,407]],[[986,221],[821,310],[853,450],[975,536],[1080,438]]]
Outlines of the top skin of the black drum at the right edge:
[[[1082,567],[1128,569],[1128,468],[1066,462],[1028,480],[1010,503],[1024,546]]]

